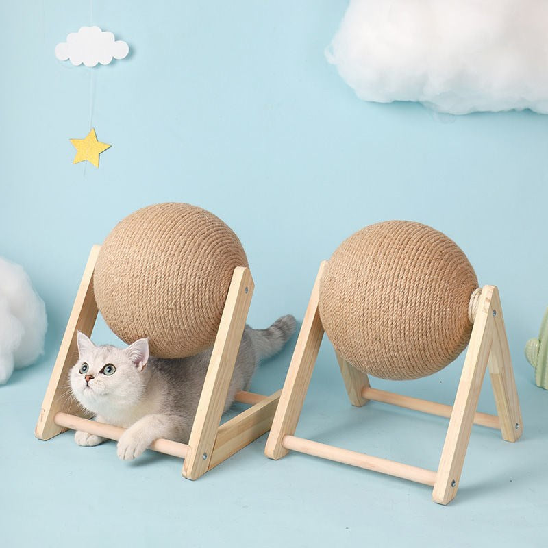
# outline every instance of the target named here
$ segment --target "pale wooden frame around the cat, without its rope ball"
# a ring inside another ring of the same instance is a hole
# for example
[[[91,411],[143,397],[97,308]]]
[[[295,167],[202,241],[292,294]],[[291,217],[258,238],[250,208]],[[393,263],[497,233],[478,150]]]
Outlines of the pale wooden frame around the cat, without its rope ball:
[[[90,336],[97,319],[93,270],[99,249],[99,245],[91,249],[58,357],[51,372],[35,430],[36,437],[41,440],[49,440],[66,429],[83,430],[112,440],[118,440],[125,432],[123,428],[90,421],[82,416],[82,410],[71,398],[69,387],[69,370],[77,360],[76,334],[81,331]],[[188,444],[159,439],[149,447],[160,453],[184,458],[183,475],[188,479],[197,479],[268,432],[271,427],[280,390],[270,396],[244,390],[236,393],[236,401],[249,403],[251,407],[220,425],[251,295],[251,273],[249,269],[238,266],[234,269],[228,290]]]

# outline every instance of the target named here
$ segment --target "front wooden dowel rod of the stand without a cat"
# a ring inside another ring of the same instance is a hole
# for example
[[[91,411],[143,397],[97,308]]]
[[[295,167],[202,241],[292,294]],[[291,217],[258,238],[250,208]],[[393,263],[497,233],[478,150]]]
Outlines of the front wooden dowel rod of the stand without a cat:
[[[432,470],[410,466],[410,464],[403,464],[403,462],[396,462],[395,460],[388,460],[386,458],[373,457],[365,453],[358,453],[357,451],[341,449],[340,447],[334,447],[333,445],[305,438],[297,438],[297,436],[284,436],[282,445],[291,451],[299,451],[299,453],[306,453],[314,457],[358,466],[359,468],[372,470],[373,472],[394,475],[419,484],[434,486],[434,482],[436,482],[436,472]]]

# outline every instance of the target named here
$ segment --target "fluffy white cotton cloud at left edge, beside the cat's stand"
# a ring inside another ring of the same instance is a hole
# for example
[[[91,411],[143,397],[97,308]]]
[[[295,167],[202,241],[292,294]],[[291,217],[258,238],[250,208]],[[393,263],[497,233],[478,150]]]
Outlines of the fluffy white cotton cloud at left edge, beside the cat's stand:
[[[22,266],[0,257],[0,384],[44,351],[46,308]]]

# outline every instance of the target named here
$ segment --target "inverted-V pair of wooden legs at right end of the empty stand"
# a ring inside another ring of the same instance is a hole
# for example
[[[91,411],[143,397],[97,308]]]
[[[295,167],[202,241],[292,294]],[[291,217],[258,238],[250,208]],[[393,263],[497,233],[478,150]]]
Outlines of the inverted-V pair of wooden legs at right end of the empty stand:
[[[497,320],[497,316],[499,319]],[[491,378],[495,389],[497,411],[505,439],[515,440],[510,434],[516,423],[521,431],[519,403],[515,391],[506,333],[503,332],[502,310],[495,286],[484,286],[466,352],[453,412],[449,420],[432,499],[447,504],[457,493],[464,456],[468,447],[477,400],[482,389],[486,366],[490,362]],[[493,379],[495,375],[495,379]],[[503,423],[505,425],[503,426]],[[512,439],[513,438],[513,439]]]

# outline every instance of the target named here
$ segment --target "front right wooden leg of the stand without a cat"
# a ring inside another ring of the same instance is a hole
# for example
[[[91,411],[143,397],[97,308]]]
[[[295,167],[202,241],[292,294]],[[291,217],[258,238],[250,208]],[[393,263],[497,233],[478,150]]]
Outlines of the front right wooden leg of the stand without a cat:
[[[458,490],[477,400],[493,345],[493,290],[493,286],[484,286],[479,297],[474,327],[443,444],[436,484],[432,491],[432,499],[439,504],[449,503]]]

